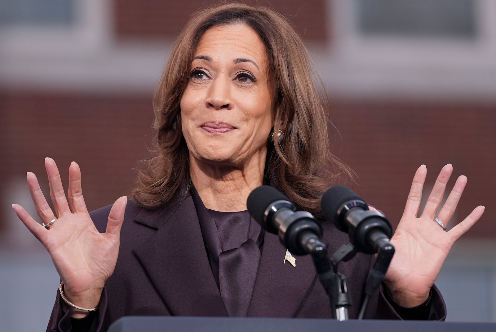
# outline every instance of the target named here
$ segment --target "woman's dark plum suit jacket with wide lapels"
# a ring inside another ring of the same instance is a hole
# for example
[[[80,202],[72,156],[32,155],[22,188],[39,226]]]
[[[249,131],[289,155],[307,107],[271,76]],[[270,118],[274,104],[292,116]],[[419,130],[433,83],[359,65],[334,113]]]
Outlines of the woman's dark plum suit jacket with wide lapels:
[[[110,206],[93,211],[97,229],[105,232]],[[324,241],[332,253],[349,242],[347,234],[323,223]],[[276,235],[265,232],[262,255],[248,317],[331,318],[329,299],[316,278],[310,256],[296,256],[296,267],[283,264],[286,249]],[[348,277],[356,318],[371,266],[371,256],[358,253],[340,263]],[[372,297],[367,318],[400,319],[383,290]],[[70,318],[60,296],[47,331],[68,331]],[[432,305],[439,318],[445,306],[434,287]],[[91,330],[106,331],[122,316],[227,316],[212,274],[198,216],[189,192],[157,210],[128,201],[121,231],[117,266],[105,284],[97,320]]]

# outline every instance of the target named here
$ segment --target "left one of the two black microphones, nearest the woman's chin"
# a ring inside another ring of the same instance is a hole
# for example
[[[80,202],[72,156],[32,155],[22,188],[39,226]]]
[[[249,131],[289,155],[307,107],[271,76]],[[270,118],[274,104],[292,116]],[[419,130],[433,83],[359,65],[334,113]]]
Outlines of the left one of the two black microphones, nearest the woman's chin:
[[[296,206],[277,189],[262,185],[248,196],[248,212],[268,232],[279,235],[279,240],[292,254],[327,254],[320,242],[322,228],[307,211],[296,211]],[[322,267],[324,268],[324,267]]]

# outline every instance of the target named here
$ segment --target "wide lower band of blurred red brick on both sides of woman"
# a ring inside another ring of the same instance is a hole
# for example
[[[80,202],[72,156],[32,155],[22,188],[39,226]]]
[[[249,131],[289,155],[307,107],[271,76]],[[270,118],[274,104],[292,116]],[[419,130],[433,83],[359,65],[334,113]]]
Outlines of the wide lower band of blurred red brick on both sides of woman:
[[[89,209],[128,193],[132,168],[146,158],[145,146],[153,137],[151,95],[0,91],[0,107],[1,183],[24,178],[29,170],[48,188],[43,160],[52,157],[66,186],[67,168],[76,161]],[[490,215],[496,201],[496,102],[338,100],[332,114],[342,137],[338,141],[334,136],[334,151],[358,173],[357,183],[347,184],[393,223],[401,216],[416,168],[426,164],[428,182],[434,183],[440,168],[451,163],[451,185],[457,175],[469,179],[459,216],[479,204],[486,206],[469,236],[494,237],[496,224]],[[9,199],[8,192],[1,194]]]

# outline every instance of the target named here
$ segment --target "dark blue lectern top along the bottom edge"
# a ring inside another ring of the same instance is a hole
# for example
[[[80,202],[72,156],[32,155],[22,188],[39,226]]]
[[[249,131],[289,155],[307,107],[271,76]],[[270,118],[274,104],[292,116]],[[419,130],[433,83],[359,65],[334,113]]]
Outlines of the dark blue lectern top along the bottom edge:
[[[152,317],[118,319],[109,332],[496,332],[496,323],[345,321],[300,318]]]

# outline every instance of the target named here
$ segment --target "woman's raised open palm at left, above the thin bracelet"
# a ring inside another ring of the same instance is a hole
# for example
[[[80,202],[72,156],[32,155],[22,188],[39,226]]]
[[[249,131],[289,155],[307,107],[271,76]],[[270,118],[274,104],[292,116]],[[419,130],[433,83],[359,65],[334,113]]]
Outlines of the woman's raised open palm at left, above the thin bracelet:
[[[97,307],[103,286],[116,266],[127,197],[120,197],[114,203],[107,231],[100,233],[95,228],[84,203],[79,166],[74,162],[69,166],[68,204],[54,160],[46,158],[45,167],[55,214],[40,189],[36,175],[31,172],[27,173],[29,191],[41,221],[46,225],[56,217],[57,220],[46,229],[20,205],[13,204],[12,208],[50,253],[64,283],[64,295],[67,299],[82,308]],[[72,311],[73,317],[84,316]]]

